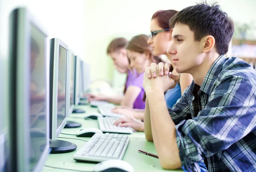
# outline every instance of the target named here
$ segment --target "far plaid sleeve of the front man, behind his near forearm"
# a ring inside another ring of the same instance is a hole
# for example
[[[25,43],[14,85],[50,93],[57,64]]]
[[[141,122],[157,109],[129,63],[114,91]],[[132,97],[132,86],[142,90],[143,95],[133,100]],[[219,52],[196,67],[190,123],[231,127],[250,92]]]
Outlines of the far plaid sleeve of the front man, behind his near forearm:
[[[190,104],[189,104],[189,93],[192,92],[193,85],[186,88],[180,99],[177,100],[176,104],[172,108],[168,108],[169,114],[174,121],[175,125],[179,124],[184,119],[191,119]]]

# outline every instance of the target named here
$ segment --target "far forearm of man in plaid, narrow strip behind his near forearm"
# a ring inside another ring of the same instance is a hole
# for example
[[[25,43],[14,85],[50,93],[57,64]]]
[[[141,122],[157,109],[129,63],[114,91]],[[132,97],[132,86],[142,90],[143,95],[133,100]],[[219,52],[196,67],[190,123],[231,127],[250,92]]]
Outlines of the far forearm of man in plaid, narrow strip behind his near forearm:
[[[145,138],[147,141],[153,141],[152,131],[151,131],[151,121],[150,121],[150,111],[148,100],[146,99],[145,103],[145,113],[144,113],[144,131],[145,131]]]

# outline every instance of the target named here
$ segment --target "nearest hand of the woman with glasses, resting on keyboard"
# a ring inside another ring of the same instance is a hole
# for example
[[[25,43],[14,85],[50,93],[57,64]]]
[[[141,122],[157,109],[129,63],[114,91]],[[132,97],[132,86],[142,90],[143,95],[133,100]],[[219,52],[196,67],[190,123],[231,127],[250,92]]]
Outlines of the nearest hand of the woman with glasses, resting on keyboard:
[[[131,127],[137,131],[144,131],[144,122],[132,117],[119,118],[114,125],[119,127]]]

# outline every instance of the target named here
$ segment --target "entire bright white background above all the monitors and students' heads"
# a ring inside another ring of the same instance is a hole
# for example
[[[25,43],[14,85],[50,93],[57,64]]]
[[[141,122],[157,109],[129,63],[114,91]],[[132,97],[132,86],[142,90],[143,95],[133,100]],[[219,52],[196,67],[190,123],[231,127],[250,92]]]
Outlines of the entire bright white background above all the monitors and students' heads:
[[[91,79],[104,78],[113,81],[114,86],[120,86],[125,75],[113,70],[112,61],[106,55],[111,39],[148,34],[155,11],[181,10],[195,2],[199,0],[1,0],[0,64],[6,67],[9,12],[15,6],[23,5],[45,25],[49,37],[61,38],[90,63]],[[255,0],[218,2],[235,22],[256,20]]]

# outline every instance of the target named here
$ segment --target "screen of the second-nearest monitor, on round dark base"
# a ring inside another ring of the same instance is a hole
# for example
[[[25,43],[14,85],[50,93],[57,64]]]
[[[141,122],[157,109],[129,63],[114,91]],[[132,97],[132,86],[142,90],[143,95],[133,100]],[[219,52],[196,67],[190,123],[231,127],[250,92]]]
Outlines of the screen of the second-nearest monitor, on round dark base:
[[[66,78],[67,78],[67,49],[59,46],[58,59],[58,97],[57,97],[57,128],[65,118]]]

